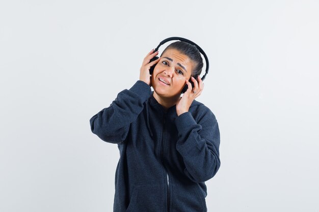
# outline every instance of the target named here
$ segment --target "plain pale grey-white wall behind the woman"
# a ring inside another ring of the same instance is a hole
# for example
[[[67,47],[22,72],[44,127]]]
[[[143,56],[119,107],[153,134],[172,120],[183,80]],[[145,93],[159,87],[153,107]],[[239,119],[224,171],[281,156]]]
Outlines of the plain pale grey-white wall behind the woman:
[[[318,11],[317,0],[1,1],[0,211],[112,211],[119,150],[89,119],[179,36],[210,62],[197,98],[221,133],[208,211],[318,212]]]

